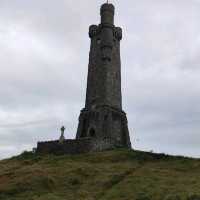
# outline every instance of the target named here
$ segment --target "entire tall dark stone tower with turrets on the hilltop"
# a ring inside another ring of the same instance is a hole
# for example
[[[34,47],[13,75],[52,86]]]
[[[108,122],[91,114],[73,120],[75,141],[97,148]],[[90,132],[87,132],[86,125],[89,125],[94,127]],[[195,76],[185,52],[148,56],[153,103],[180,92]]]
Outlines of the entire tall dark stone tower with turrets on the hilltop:
[[[126,113],[122,110],[120,40],[122,29],[114,25],[115,8],[101,6],[101,23],[91,25],[85,108],[76,138],[111,141],[131,148]]]

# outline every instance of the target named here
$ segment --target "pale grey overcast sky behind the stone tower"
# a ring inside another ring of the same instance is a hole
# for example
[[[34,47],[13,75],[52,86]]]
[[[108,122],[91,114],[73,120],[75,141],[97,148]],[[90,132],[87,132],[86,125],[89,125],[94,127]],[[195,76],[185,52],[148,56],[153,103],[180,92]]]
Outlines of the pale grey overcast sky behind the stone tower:
[[[200,0],[112,2],[133,147],[200,157]],[[0,159],[75,137],[102,3],[0,0]]]

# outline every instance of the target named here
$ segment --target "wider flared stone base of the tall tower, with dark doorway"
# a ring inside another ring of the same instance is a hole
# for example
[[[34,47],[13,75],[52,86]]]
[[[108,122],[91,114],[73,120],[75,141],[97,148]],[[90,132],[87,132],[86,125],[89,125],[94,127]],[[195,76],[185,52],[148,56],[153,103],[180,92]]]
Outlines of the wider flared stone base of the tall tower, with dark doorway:
[[[110,140],[116,147],[131,148],[126,113],[106,105],[83,109],[76,135],[76,139],[80,138]]]

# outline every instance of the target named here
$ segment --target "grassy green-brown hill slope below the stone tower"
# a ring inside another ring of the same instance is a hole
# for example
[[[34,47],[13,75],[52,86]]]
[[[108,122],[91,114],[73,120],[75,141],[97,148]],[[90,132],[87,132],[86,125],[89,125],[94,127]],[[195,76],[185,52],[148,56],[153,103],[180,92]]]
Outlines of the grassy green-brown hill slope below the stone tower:
[[[200,160],[115,150],[0,161],[0,200],[200,200]]]

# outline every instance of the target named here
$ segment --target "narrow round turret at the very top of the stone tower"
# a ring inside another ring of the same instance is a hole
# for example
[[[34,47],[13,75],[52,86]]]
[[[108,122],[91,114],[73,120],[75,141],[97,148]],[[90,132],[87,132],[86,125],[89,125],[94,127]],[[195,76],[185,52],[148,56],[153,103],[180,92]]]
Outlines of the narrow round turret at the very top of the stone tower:
[[[115,7],[113,4],[104,3],[101,6],[100,14],[102,24],[114,24]]]

